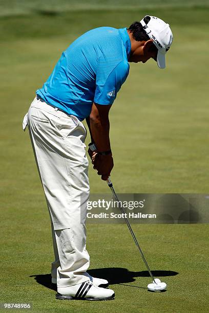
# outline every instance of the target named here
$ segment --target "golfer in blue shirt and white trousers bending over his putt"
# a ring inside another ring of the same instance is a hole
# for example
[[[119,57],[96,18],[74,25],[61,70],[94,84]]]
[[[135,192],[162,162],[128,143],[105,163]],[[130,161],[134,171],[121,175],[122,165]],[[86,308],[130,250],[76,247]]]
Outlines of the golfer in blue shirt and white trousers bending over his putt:
[[[87,273],[89,180],[87,130],[82,121],[87,119],[91,134],[89,154],[94,169],[107,180],[113,168],[108,115],[129,75],[129,62],[154,59],[159,68],[165,68],[172,39],[169,25],[155,16],[145,16],[128,29],[88,31],[62,53],[24,118],[51,218],[55,255],[51,275],[52,283],[57,283],[57,299],[109,300],[115,296],[105,288],[107,280]]]

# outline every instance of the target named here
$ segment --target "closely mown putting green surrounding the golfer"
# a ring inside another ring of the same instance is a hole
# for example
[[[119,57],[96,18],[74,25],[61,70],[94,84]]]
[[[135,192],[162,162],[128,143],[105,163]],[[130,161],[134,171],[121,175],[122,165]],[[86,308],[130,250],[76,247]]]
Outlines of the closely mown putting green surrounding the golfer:
[[[12,3],[4,5],[10,12],[5,15],[16,12]],[[207,193],[209,12],[189,8],[191,3],[184,3],[187,8],[121,6],[52,15],[46,14],[47,2],[43,12],[32,13],[26,7],[34,4],[19,2],[19,12],[27,14],[0,19],[1,302],[32,302],[36,312],[207,311],[208,225],[133,226],[151,269],[178,273],[158,273],[168,283],[168,292],[161,294],[144,289],[150,278],[140,273],[145,268],[125,225],[88,225],[92,273],[110,277],[116,299],[55,300],[54,290],[43,285],[49,276],[41,276],[50,273],[53,261],[48,211],[28,130],[22,130],[35,90],[79,34],[98,26],[125,27],[147,13],[159,16],[174,33],[168,67],[158,70],[154,61],[131,64],[110,113],[112,180],[120,193]],[[91,166],[89,176],[92,193],[108,192]]]

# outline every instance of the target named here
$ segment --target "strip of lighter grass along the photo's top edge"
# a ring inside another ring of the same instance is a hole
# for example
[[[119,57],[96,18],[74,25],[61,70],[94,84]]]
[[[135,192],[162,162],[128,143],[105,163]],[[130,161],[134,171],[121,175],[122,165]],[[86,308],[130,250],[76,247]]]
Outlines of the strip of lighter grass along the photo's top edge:
[[[196,7],[208,7],[207,0],[0,0],[0,16],[10,16],[19,14],[31,14],[34,12],[42,12],[49,15],[53,15],[61,12],[73,12],[74,10],[86,11],[91,10],[124,10],[124,9],[159,9],[159,8],[196,8]]]

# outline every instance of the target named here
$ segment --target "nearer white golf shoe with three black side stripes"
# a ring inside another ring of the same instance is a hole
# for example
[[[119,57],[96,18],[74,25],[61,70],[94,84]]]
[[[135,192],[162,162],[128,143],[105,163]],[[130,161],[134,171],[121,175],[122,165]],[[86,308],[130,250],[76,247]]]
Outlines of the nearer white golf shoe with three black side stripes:
[[[112,289],[95,286],[91,280],[70,287],[58,287],[56,299],[59,300],[111,300],[115,297]]]

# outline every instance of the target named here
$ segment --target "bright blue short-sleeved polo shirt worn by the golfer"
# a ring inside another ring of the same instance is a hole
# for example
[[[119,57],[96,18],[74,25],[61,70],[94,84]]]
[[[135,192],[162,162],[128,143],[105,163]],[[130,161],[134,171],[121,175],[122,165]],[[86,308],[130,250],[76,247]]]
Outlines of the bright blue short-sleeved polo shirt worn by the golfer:
[[[82,121],[90,115],[93,102],[113,104],[129,74],[130,53],[127,28],[90,30],[62,53],[36,94]]]

